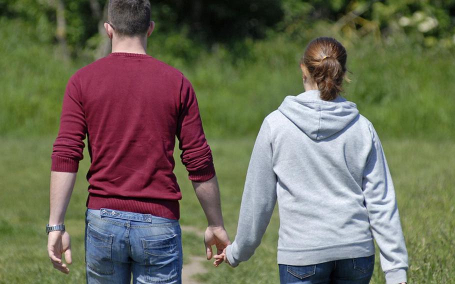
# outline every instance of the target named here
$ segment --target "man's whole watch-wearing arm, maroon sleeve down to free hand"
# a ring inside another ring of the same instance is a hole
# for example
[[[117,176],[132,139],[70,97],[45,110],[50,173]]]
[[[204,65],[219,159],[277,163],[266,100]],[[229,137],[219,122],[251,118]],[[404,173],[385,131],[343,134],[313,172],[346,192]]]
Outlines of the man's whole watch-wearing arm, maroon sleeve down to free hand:
[[[79,166],[83,158],[83,148],[87,125],[80,98],[79,79],[77,73],[71,76],[66,84],[61,107],[60,129],[52,149],[52,165],[50,172],[50,214],[49,225],[62,224],[66,207],[71,197],[72,188]],[[71,263],[69,234],[61,231],[49,232],[47,252],[53,266],[68,273],[69,269],[61,261],[64,252],[65,261]]]

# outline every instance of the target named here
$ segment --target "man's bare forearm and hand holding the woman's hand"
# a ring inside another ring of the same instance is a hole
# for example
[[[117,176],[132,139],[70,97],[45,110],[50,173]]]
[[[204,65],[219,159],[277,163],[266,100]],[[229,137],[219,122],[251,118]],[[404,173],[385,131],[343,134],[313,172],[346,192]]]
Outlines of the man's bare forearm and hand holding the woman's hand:
[[[217,248],[217,254],[219,254],[230,243],[224,229],[218,181],[215,175],[204,182],[193,181],[192,185],[207,218],[208,226],[204,233],[204,243],[207,259],[211,259],[213,255],[211,246],[213,244]]]

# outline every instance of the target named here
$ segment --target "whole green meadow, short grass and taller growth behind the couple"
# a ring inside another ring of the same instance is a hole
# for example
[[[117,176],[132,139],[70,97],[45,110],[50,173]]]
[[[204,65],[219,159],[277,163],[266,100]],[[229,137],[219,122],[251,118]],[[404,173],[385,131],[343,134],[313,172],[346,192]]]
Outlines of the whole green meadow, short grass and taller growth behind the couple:
[[[48,260],[44,225],[62,93],[71,73],[90,59],[62,61],[31,27],[2,18],[0,24],[1,38],[9,39],[0,41],[0,52],[7,54],[0,57],[0,283],[81,283],[86,151],[65,220],[73,250],[69,275]],[[302,91],[298,60],[304,42],[314,35],[292,41],[274,34],[246,40],[239,49],[199,50],[189,59],[169,54],[177,43],[190,47],[178,35],[150,39],[149,54],[178,67],[194,85],[231,239],[254,135],[285,95]],[[340,40],[351,71],[345,95],[375,125],[389,162],[409,253],[409,283],[455,283],[455,56],[399,37],[391,42]],[[177,162],[175,171],[183,193],[181,224],[202,231],[205,218],[185,170]],[[275,212],[248,262],[215,269],[207,261],[208,273],[197,275],[198,280],[276,283],[278,223]],[[204,253],[202,240],[191,232],[184,232],[183,246],[185,262],[189,255]],[[371,283],[383,282],[376,253]]]

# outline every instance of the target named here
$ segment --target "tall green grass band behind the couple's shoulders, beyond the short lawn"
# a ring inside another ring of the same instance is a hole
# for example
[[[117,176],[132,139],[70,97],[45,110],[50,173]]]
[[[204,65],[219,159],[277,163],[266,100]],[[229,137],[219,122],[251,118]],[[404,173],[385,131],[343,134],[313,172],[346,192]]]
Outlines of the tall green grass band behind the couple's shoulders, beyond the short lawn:
[[[0,133],[55,133],[69,76],[88,60],[64,62],[52,45],[20,21],[0,19]],[[17,32],[20,30],[21,32]],[[311,38],[324,35],[313,32]],[[307,40],[272,34],[239,48],[192,46],[185,34],[155,35],[149,54],[181,69],[193,83],[209,136],[255,134],[261,120],[286,95],[303,91],[298,67]],[[189,59],[177,43],[188,50]],[[415,47],[406,40],[345,43],[352,82],[346,96],[381,135],[453,138],[455,55]],[[194,48],[194,49],[192,49]],[[199,53],[194,50],[198,50]],[[174,52],[175,51],[175,52]],[[173,53],[172,53],[173,52]]]

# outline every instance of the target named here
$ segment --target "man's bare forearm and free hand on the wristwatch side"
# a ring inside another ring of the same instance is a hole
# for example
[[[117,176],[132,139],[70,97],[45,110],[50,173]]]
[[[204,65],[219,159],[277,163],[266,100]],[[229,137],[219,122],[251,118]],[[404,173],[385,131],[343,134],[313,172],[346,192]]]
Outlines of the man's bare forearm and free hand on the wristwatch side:
[[[63,223],[75,180],[75,172],[50,172],[50,226]],[[72,262],[69,234],[66,231],[49,232],[47,253],[54,268],[63,273],[69,273],[67,265],[61,261],[61,254],[64,253],[65,262],[67,264]]]

